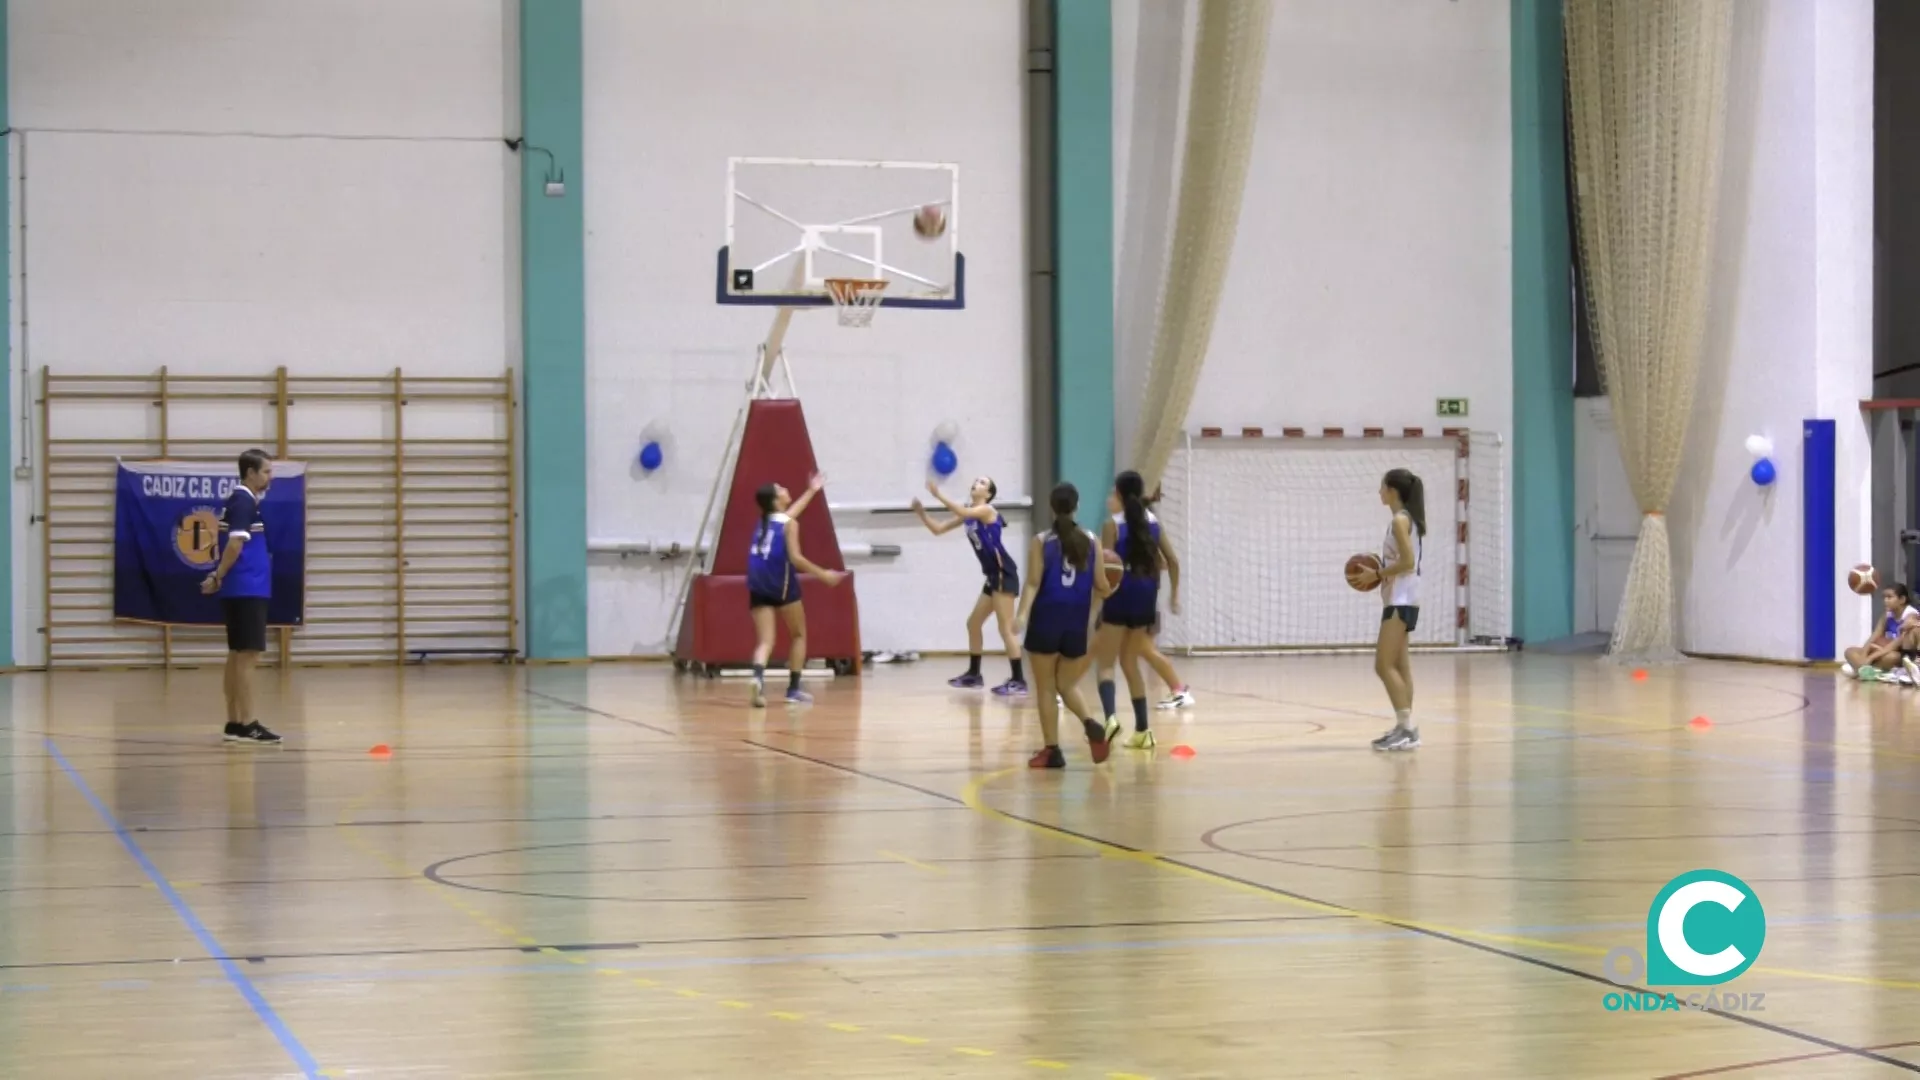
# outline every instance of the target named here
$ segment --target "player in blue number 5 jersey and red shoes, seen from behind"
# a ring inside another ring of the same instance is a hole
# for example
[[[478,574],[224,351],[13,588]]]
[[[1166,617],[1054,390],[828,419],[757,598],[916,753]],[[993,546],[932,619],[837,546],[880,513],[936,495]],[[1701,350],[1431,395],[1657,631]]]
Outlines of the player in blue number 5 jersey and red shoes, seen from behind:
[[[1098,723],[1087,715],[1079,696],[1079,680],[1087,675],[1087,625],[1092,621],[1092,598],[1114,590],[1100,565],[1098,542],[1073,521],[1079,509],[1079,490],[1073,484],[1054,488],[1046,503],[1054,511],[1054,527],[1027,544],[1027,588],[1020,594],[1020,615],[1014,626],[1027,630],[1027,657],[1033,661],[1033,682],[1041,705],[1041,736],[1046,740],[1029,761],[1029,769],[1066,769],[1060,753],[1060,705],[1073,713],[1087,732],[1094,765],[1106,761],[1119,734],[1117,723]],[[1058,694],[1058,698],[1056,698]]]

